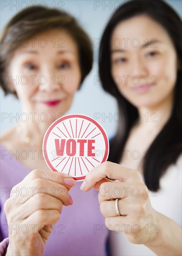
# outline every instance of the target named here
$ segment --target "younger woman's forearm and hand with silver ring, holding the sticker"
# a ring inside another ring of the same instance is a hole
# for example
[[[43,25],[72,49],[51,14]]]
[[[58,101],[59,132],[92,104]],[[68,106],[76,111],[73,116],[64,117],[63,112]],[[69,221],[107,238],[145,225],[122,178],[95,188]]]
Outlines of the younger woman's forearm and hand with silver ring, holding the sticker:
[[[108,229],[125,233],[130,243],[143,244],[157,255],[181,255],[181,227],[152,208],[147,187],[138,171],[104,162],[87,174],[81,189],[86,192],[93,187],[99,191],[100,211]],[[120,216],[116,213],[116,198],[119,198]],[[149,227],[148,232],[146,227]],[[151,232],[152,227],[156,227],[156,232]]]

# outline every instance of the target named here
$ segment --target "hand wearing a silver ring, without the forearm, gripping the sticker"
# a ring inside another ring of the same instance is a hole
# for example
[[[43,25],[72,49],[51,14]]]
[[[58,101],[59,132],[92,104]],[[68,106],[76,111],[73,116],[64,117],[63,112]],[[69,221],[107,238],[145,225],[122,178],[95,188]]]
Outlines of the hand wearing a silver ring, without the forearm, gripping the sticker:
[[[86,192],[93,187],[98,191],[108,229],[125,233],[130,243],[150,244],[156,240],[158,213],[151,207],[148,189],[138,171],[104,162],[86,175],[81,189]],[[121,216],[117,215],[116,198]]]

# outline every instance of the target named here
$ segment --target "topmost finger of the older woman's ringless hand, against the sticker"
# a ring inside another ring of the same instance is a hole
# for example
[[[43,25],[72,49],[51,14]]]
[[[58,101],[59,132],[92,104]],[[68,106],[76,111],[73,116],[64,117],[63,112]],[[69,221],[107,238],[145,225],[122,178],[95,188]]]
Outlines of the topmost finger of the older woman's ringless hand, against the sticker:
[[[64,173],[51,171],[51,170],[35,169],[35,170],[32,170],[28,175],[26,175],[26,177],[22,180],[22,182],[17,184],[14,187],[14,189],[16,189],[16,187],[26,186],[30,181],[37,178],[43,178],[46,180],[50,180],[52,182],[57,182],[58,184],[63,184],[69,190],[71,189],[72,186],[76,184],[76,181],[73,179],[71,175],[66,175]],[[64,182],[65,178],[70,178],[72,180],[72,185],[65,183]]]

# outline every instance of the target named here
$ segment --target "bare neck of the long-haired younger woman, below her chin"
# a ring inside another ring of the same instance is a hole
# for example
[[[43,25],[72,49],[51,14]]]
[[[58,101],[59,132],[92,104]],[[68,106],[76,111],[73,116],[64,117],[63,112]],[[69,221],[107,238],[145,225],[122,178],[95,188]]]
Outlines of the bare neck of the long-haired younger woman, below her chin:
[[[173,108],[173,95],[150,108],[138,108],[140,120],[138,126],[159,131],[169,120]]]

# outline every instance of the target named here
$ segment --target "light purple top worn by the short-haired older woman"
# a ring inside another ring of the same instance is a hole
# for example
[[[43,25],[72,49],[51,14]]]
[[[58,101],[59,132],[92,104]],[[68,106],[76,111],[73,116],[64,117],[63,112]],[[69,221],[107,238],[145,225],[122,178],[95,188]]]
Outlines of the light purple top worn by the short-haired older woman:
[[[8,237],[4,203],[9,198],[13,186],[21,182],[30,170],[11,156],[2,145],[0,145],[0,155],[0,241],[2,241]],[[77,182],[71,189],[73,204],[68,207],[63,206],[60,219],[45,244],[43,255],[106,255],[106,239],[109,230],[104,225],[97,194],[94,189],[86,193],[81,191],[80,185],[81,182]]]

